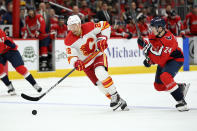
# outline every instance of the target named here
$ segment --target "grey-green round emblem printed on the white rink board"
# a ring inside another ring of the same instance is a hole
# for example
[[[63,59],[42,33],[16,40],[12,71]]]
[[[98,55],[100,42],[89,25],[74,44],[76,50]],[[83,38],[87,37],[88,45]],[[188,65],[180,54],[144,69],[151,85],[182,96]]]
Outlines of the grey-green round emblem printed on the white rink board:
[[[34,48],[32,46],[25,47],[22,58],[24,62],[34,62],[37,58]]]

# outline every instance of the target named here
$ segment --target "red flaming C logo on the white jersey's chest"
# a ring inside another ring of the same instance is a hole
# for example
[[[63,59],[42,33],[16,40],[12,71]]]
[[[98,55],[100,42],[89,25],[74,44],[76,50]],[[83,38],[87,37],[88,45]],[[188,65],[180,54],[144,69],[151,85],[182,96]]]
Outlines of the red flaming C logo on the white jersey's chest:
[[[95,44],[93,43],[93,38],[88,38],[87,42],[83,44],[80,48],[80,50],[83,52],[83,55],[88,56],[95,50]]]

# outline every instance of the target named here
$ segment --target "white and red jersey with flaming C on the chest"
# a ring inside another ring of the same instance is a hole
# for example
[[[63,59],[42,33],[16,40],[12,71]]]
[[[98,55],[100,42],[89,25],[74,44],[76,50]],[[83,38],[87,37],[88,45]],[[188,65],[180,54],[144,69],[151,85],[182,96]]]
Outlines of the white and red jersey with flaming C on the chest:
[[[66,54],[69,63],[73,57],[77,57],[82,61],[87,60],[89,57],[88,61],[85,62],[85,67],[88,67],[94,62],[96,57],[102,55],[102,52],[95,54],[97,51],[97,38],[104,36],[109,39],[111,27],[106,21],[100,21],[98,23],[87,22],[81,25],[81,30],[82,33],[80,36],[74,35],[71,31],[66,36],[64,41]],[[93,53],[97,56],[92,55]]]

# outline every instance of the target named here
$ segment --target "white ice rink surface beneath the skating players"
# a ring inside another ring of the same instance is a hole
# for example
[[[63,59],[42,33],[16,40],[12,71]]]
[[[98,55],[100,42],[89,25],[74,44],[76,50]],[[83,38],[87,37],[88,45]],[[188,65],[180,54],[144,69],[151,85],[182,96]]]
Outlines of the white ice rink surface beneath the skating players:
[[[176,82],[191,83],[190,111],[178,112],[168,92],[154,90],[154,74],[112,76],[130,111],[115,111],[87,77],[69,77],[38,102],[20,97],[39,95],[25,80],[14,80],[17,96],[0,82],[0,131],[197,131],[197,72],[180,72]],[[44,91],[60,78],[37,79]],[[32,115],[32,110],[37,115]]]

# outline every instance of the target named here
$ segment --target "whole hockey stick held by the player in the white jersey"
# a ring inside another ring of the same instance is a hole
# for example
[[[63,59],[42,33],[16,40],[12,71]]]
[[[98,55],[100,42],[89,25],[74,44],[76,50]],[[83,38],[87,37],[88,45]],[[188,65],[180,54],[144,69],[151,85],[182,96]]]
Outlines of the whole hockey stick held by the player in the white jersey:
[[[97,54],[99,54],[99,51],[96,51],[94,53],[92,53],[89,57],[87,57],[84,60],[84,63],[88,63],[91,59],[93,59],[94,57],[97,56]],[[49,88],[46,92],[44,92],[42,95],[38,96],[38,97],[32,97],[32,96],[28,96],[24,93],[21,94],[21,97],[29,100],[29,101],[39,101],[42,97],[44,97],[49,91],[51,91],[54,87],[56,87],[60,82],[62,82],[66,77],[68,77],[73,71],[75,71],[76,69],[73,68],[70,72],[68,72],[63,78],[61,78],[55,85],[53,85],[51,88]]]

